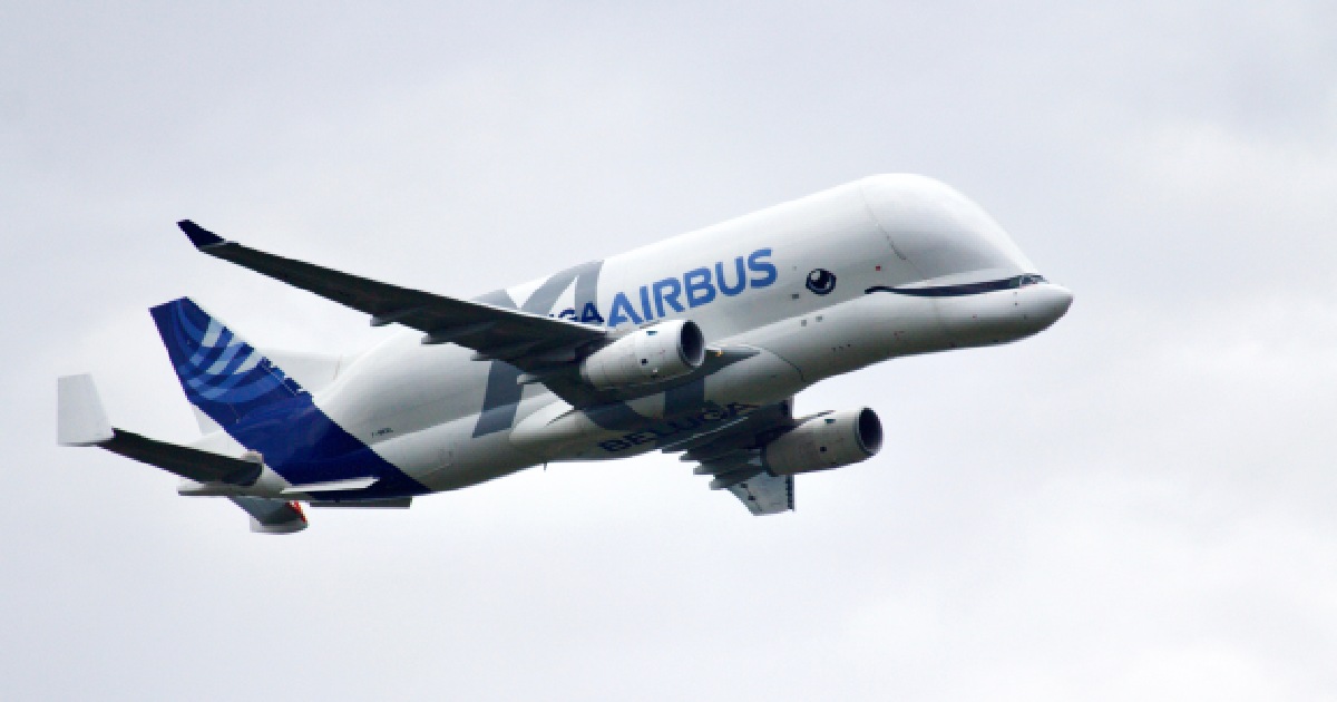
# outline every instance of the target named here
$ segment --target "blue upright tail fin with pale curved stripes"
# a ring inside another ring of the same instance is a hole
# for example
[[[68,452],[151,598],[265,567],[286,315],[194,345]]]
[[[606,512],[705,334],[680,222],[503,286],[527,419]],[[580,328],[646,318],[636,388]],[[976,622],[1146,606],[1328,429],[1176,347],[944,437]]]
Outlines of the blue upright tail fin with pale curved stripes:
[[[254,346],[183,297],[150,310],[186,398],[222,428],[306,394]]]

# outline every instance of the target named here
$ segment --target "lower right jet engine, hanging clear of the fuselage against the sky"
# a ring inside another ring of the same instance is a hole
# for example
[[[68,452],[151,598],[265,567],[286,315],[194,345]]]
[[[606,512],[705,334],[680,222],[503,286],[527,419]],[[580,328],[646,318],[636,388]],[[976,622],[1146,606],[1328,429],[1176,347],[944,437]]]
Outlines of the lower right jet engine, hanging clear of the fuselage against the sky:
[[[813,417],[762,451],[775,475],[829,471],[874,456],[882,448],[882,423],[872,409]]]

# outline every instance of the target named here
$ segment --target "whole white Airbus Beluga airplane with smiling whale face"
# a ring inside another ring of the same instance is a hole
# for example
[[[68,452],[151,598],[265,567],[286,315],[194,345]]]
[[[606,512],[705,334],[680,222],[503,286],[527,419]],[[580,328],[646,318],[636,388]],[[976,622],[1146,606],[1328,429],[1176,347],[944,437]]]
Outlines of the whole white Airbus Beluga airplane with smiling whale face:
[[[794,476],[874,456],[869,408],[796,417],[825,378],[1007,344],[1072,294],[979,205],[874,175],[539,281],[460,300],[361,278],[178,223],[194,247],[397,325],[356,356],[263,350],[190,298],[151,309],[202,436],[115,428],[88,374],[57,381],[57,443],[99,447],[222,496],[251,531],[309,507],[406,508],[559,461],[677,453],[753,515]]]

